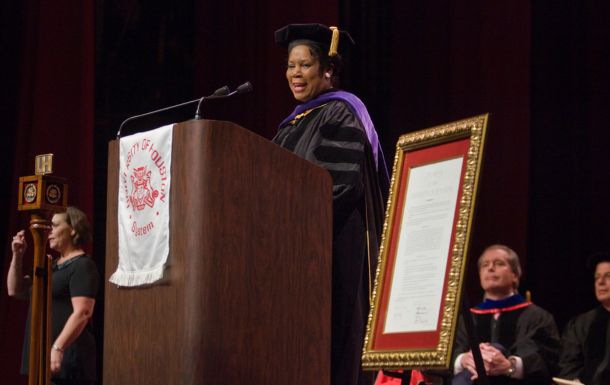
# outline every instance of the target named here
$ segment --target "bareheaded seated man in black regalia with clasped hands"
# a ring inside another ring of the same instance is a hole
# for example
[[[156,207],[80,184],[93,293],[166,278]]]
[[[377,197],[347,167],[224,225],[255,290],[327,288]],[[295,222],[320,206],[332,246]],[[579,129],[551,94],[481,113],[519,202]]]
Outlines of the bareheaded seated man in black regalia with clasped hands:
[[[519,256],[507,246],[492,245],[479,257],[478,267],[485,296],[470,312],[489,383],[551,384],[557,373],[559,333],[549,312],[518,293]],[[463,322],[458,325],[454,357],[452,383],[476,384]]]

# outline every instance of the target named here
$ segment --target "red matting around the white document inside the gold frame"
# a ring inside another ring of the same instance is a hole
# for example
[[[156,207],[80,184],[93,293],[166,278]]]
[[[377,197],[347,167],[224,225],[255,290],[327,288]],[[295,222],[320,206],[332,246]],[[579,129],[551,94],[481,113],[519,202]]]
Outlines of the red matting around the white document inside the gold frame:
[[[445,270],[445,277],[443,283],[443,292],[441,295],[441,306],[439,311],[439,319],[437,320],[436,330],[425,331],[425,332],[409,332],[409,333],[384,333],[383,329],[385,326],[386,316],[388,312],[388,301],[390,299],[390,288],[392,287],[392,278],[394,275],[394,266],[396,262],[396,249],[398,247],[398,234],[400,234],[400,228],[402,225],[402,212],[405,205],[405,197],[407,195],[407,181],[409,180],[409,172],[411,168],[424,166],[430,163],[436,163],[447,159],[463,157],[464,162],[462,163],[462,170],[460,176],[460,184],[458,189],[457,204],[455,207],[453,226],[451,231],[451,238],[449,244],[449,253],[453,249],[454,237],[455,237],[455,226],[458,220],[458,209],[459,202],[462,198],[462,186],[464,182],[464,172],[466,170],[466,156],[468,154],[468,148],[470,146],[470,139],[462,139],[454,142],[444,143],[441,145],[423,148],[407,152],[403,157],[403,164],[401,165],[402,173],[400,186],[398,186],[396,194],[396,204],[394,206],[393,223],[389,227],[391,233],[389,234],[387,261],[385,269],[385,280],[384,287],[381,291],[381,298],[379,301],[379,314],[374,330],[374,341],[372,348],[374,350],[419,350],[419,349],[434,349],[437,347],[440,338],[440,323],[445,305],[445,295],[447,293],[447,277],[451,266],[447,255],[447,266]]]

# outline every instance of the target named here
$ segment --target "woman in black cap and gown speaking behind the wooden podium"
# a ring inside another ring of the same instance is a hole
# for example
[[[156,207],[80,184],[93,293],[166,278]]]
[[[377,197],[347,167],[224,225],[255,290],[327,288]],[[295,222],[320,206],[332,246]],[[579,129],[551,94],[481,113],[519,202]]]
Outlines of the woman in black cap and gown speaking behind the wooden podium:
[[[360,370],[360,356],[388,175],[366,107],[336,88],[338,51],[354,42],[321,24],[287,25],[275,41],[288,50],[286,79],[300,104],[273,141],[325,168],[333,181],[331,384],[372,383]]]

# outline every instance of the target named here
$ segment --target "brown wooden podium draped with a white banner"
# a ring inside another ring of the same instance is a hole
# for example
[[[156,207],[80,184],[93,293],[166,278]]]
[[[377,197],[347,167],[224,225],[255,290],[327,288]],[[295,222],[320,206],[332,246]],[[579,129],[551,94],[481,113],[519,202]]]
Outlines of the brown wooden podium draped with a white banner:
[[[173,130],[170,254],[149,287],[118,266],[119,142],[108,156],[104,383],[330,383],[332,182],[236,124]]]

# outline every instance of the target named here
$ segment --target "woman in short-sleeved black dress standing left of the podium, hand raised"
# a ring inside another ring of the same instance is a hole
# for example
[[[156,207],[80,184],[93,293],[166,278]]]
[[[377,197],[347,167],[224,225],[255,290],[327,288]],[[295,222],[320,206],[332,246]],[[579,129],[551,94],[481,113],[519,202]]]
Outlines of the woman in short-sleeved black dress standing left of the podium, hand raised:
[[[96,347],[89,321],[100,278],[95,263],[82,249],[89,238],[89,224],[81,210],[68,207],[66,212],[53,215],[49,247],[59,253],[59,258],[53,263],[49,365],[55,385],[88,385],[96,379]],[[21,230],[13,237],[13,259],[7,278],[12,297],[28,297],[31,279],[22,273],[26,248],[25,232]],[[29,319],[21,368],[24,374],[28,372]]]

